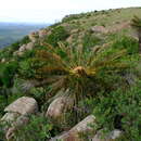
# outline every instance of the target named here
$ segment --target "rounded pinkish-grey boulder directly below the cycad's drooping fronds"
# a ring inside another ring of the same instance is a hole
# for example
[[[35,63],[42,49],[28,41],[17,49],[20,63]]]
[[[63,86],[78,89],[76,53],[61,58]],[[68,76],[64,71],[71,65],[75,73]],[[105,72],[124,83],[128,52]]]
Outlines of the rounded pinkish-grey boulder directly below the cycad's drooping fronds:
[[[59,120],[62,118],[63,114],[72,108],[73,100],[67,97],[56,98],[48,107],[47,117],[51,117],[54,120]]]

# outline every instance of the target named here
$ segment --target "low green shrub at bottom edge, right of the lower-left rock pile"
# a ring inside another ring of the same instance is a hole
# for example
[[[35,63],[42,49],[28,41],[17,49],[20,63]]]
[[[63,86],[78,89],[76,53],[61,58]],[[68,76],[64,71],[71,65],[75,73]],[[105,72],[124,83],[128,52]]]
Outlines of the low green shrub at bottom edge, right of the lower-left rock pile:
[[[51,137],[52,125],[43,116],[30,116],[26,126],[15,131],[14,141],[44,141]],[[55,133],[55,132],[54,132]]]

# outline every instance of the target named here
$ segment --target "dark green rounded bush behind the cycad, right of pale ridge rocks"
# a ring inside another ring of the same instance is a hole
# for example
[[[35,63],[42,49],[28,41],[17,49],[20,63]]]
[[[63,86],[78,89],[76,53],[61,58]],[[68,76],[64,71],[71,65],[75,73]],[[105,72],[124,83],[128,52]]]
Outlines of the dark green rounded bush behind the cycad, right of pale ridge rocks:
[[[47,42],[56,47],[59,41],[65,41],[68,36],[68,33],[63,26],[57,26],[52,30],[52,34],[48,36]]]

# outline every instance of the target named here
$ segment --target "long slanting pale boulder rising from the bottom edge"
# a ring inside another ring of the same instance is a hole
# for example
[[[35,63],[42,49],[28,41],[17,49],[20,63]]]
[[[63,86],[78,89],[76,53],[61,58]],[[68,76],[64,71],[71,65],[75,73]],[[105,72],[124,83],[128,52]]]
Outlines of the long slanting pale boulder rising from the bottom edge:
[[[91,124],[95,121],[95,117],[93,115],[87,116],[84,120],[78,123],[74,128],[69,131],[51,139],[50,141],[85,141],[82,140],[81,136],[87,134],[88,137],[91,136],[93,132],[93,128],[90,127]]]

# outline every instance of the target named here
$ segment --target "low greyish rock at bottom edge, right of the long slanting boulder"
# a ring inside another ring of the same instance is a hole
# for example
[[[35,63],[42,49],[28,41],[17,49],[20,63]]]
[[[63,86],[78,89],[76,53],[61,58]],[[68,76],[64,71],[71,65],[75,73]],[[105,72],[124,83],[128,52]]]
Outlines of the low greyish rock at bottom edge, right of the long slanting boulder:
[[[111,131],[108,134],[106,134],[105,137],[103,137],[102,130],[100,130],[94,136],[92,141],[114,141],[114,140],[120,138],[121,134],[123,134],[123,132],[120,130],[115,129],[115,130]]]

